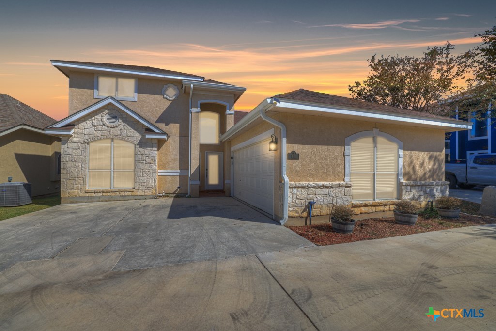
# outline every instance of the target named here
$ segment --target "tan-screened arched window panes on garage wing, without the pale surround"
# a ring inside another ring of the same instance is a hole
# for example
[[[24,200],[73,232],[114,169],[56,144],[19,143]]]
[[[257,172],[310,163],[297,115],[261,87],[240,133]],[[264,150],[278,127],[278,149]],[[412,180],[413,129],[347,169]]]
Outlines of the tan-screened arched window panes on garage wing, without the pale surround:
[[[377,136],[357,139],[350,147],[352,199],[397,199],[398,145]]]

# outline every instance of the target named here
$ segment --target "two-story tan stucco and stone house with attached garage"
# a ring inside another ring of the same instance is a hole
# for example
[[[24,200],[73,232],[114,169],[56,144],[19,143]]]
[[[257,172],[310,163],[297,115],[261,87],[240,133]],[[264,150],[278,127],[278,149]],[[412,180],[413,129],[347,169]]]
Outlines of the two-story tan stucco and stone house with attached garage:
[[[304,89],[234,123],[245,88],[170,70],[52,61],[69,77],[62,202],[198,197],[217,190],[284,224],[315,201],[357,213],[447,195],[444,135],[456,119]]]

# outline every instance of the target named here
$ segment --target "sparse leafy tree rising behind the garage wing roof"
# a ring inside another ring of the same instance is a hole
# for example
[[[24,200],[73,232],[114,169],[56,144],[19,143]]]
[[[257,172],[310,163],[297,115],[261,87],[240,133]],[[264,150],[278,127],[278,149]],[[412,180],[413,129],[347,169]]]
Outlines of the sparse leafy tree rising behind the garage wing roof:
[[[349,85],[354,99],[383,105],[452,115],[446,97],[462,90],[473,61],[472,52],[451,55],[454,45],[427,48],[421,57],[381,56],[368,60],[371,72],[360,83]]]

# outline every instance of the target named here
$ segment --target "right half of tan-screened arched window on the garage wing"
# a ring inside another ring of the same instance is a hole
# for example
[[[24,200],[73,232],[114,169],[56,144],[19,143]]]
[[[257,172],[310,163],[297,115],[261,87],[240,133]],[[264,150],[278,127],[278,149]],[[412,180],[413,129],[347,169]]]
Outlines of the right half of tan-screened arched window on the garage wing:
[[[377,137],[376,199],[396,199],[398,196],[398,145]]]

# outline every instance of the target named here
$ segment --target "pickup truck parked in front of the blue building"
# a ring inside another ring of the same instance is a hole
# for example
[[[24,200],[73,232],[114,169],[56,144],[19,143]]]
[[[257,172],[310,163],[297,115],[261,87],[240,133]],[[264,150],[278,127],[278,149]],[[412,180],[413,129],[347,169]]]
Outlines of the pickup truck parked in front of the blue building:
[[[446,163],[444,178],[449,182],[450,189],[457,185],[462,189],[496,185],[496,154],[475,154],[467,163]]]

